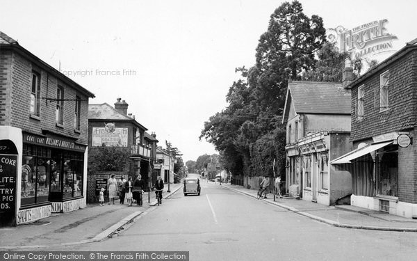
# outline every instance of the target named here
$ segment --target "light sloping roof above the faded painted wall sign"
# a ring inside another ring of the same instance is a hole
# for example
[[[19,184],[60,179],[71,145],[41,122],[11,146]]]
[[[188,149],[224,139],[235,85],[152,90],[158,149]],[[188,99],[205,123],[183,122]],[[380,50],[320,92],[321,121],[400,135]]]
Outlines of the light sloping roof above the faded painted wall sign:
[[[135,119],[120,113],[106,102],[102,104],[88,104],[88,120],[126,120],[147,130]]]

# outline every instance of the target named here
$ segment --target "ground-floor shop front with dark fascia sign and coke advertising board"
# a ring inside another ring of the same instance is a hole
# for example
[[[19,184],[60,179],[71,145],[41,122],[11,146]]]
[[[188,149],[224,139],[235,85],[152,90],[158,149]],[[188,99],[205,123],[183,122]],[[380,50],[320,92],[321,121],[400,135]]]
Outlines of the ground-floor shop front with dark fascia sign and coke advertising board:
[[[8,192],[14,193],[8,197],[13,201],[7,203],[8,213],[14,213],[8,225],[31,223],[51,216],[52,212],[85,207],[86,145],[51,132],[40,135],[16,127],[1,127],[0,147],[12,145],[15,154],[1,155],[8,162],[15,158],[17,164],[16,175],[8,166],[7,173],[2,171],[0,178],[10,187]]]

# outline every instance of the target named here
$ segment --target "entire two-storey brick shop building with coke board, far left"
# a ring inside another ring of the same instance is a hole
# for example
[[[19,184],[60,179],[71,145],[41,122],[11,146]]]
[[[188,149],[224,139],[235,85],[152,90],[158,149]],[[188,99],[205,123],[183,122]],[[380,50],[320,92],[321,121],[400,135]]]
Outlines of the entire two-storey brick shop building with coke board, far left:
[[[0,32],[0,223],[85,206],[88,90]]]

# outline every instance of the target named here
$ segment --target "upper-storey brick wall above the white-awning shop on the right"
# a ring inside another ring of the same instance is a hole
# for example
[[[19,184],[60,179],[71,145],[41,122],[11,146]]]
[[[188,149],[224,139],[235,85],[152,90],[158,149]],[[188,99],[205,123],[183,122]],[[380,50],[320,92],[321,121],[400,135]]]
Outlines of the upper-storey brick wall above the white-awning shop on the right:
[[[379,134],[413,129],[416,125],[416,75],[417,51],[409,53],[399,61],[375,73],[366,81],[352,88],[352,141],[367,139]],[[389,70],[389,109],[379,109],[379,78],[383,72]],[[357,119],[358,87],[363,84],[364,116]]]

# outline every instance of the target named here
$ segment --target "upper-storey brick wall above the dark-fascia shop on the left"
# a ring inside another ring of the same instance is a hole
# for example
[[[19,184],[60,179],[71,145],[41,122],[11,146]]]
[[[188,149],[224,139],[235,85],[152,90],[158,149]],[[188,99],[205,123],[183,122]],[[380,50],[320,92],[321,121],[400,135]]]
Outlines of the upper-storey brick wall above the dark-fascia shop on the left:
[[[79,142],[88,141],[88,97],[79,93],[74,87],[61,82],[57,75],[51,74],[31,63],[23,56],[13,52],[11,56],[11,122],[28,132],[42,133],[48,129],[57,134],[78,138]],[[40,120],[30,117],[32,72],[40,74]],[[58,84],[64,88],[63,127],[56,126],[56,102],[43,100],[42,97],[56,98]],[[81,98],[80,132],[74,131],[75,97]]]

